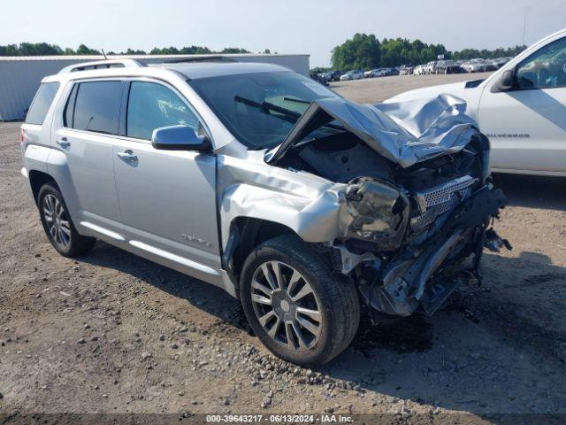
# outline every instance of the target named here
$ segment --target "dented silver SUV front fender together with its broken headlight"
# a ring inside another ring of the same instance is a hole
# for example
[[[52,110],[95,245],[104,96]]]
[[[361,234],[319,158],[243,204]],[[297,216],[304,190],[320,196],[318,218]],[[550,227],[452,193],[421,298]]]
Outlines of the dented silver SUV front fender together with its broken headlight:
[[[225,157],[218,163],[223,251],[238,217],[278,222],[310,243],[355,237],[394,250],[402,242],[409,198],[400,189],[365,178],[333,183],[277,167],[266,175],[264,168],[256,172],[254,157],[263,161],[263,155],[249,151],[248,158]]]

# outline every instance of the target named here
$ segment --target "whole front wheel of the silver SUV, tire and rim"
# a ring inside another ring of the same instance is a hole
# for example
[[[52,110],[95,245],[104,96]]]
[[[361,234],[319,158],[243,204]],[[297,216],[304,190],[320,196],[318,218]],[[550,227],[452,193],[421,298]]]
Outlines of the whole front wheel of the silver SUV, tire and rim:
[[[356,336],[360,305],[354,283],[333,274],[329,260],[296,236],[259,245],[244,264],[240,286],[251,328],[281,359],[320,365]]]

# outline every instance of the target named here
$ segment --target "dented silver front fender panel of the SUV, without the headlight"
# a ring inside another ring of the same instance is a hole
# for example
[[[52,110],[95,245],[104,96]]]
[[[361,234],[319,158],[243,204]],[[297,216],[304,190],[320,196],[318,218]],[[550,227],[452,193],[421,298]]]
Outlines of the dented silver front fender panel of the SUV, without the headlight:
[[[278,222],[306,242],[329,242],[340,236],[340,208],[346,184],[278,167],[266,169],[263,151],[244,155],[246,158],[225,156],[218,161],[223,250],[237,217]]]

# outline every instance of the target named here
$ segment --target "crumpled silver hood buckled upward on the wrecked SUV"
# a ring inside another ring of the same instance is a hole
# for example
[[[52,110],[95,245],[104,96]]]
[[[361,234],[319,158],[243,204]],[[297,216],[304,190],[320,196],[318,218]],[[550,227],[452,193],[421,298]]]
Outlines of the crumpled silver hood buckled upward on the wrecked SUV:
[[[356,104],[342,97],[319,99],[297,120],[268,162],[274,164],[295,143],[333,122],[384,158],[402,167],[412,166],[447,152],[460,151],[470,142],[478,130],[465,111],[465,101],[447,94],[373,105]]]

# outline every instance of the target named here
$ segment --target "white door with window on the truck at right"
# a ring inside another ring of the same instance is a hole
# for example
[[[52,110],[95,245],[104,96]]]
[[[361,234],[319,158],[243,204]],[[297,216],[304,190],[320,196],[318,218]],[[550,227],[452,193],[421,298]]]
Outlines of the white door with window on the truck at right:
[[[492,146],[494,171],[566,173],[566,37],[549,42],[515,68],[516,87],[486,87],[479,128]]]

